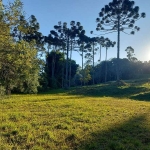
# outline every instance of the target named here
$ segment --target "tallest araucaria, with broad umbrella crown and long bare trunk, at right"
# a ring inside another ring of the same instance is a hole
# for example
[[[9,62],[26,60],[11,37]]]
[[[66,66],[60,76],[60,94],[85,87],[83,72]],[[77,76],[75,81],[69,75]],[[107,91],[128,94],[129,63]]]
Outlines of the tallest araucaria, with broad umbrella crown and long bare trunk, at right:
[[[144,18],[145,13],[139,14],[139,7],[134,6],[135,2],[130,0],[113,0],[105,5],[99,13],[97,21],[97,31],[112,33],[117,32],[117,81],[119,77],[119,55],[120,55],[120,32],[134,34],[140,28],[135,26],[135,22]],[[130,33],[125,30],[130,30]]]

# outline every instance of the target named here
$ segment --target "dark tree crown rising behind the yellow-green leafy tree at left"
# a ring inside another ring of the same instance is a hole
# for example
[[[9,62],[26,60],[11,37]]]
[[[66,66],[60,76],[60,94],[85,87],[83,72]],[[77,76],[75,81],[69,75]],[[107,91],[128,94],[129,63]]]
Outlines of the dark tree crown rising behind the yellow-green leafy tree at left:
[[[20,15],[18,22],[13,25],[11,35],[15,41],[35,41],[36,48],[39,52],[43,52],[44,49],[44,36],[39,32],[40,25],[34,15],[31,15],[28,19],[25,19],[24,15]]]

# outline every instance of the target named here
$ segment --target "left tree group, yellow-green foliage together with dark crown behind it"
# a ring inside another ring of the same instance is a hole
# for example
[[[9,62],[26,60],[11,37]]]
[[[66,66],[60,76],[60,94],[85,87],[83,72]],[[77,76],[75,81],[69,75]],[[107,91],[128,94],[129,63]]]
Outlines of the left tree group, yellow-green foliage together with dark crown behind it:
[[[11,91],[36,93],[39,85],[42,34],[35,16],[26,20],[22,3],[0,5],[0,86]]]

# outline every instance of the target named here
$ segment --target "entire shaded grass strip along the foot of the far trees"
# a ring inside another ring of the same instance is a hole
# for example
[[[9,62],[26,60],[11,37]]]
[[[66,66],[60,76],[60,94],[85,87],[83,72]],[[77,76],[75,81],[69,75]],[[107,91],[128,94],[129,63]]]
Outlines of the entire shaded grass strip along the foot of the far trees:
[[[116,86],[111,84],[94,85],[86,87],[70,88],[69,90],[58,89],[49,90],[48,92],[39,93],[39,95],[55,95],[55,94],[70,94],[79,96],[91,97],[113,97],[113,98],[129,98],[139,101],[150,101],[149,89],[142,86]]]

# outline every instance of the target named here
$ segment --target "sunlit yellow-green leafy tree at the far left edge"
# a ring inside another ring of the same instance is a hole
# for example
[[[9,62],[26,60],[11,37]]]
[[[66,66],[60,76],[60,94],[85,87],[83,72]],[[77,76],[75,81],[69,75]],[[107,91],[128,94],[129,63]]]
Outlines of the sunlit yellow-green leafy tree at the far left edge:
[[[11,94],[11,90],[37,93],[39,84],[40,60],[36,41],[14,40],[12,35],[12,29],[20,23],[21,14],[22,3],[16,0],[4,7],[0,20],[0,84],[6,94]]]

